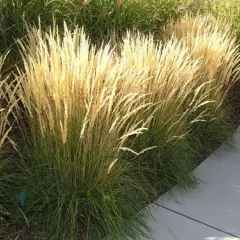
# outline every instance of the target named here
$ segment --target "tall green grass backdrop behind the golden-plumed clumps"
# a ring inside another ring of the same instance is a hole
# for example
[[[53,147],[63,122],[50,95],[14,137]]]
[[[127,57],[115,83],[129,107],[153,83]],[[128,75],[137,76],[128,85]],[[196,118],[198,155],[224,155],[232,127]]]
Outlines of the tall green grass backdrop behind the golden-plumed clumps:
[[[20,65],[16,40],[24,39],[29,25],[46,30],[54,23],[63,30],[84,27],[96,44],[103,40],[116,43],[128,29],[158,32],[168,20],[177,18],[182,0],[2,0],[0,3],[0,53],[11,49],[6,64]],[[62,25],[62,27],[60,27]]]

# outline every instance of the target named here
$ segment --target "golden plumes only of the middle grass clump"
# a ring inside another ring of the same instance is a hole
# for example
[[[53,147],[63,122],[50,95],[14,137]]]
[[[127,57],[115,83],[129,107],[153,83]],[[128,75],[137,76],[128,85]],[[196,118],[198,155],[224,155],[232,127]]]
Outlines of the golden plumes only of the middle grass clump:
[[[182,137],[187,133],[189,114],[208,103],[207,94],[200,94],[205,83],[197,85],[199,61],[192,59],[189,49],[178,40],[155,43],[151,35],[128,33],[121,52],[124,68],[145,76],[144,81],[135,82],[135,87],[144,89],[148,101],[155,103],[152,124],[156,132],[162,129],[167,141]],[[199,112],[194,121],[202,120],[203,115],[204,112]]]

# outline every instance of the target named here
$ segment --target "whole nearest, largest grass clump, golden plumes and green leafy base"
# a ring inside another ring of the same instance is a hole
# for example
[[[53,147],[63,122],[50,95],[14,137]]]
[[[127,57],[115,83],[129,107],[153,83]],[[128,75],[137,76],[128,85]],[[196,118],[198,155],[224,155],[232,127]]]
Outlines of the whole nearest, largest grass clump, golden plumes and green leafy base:
[[[33,29],[22,49],[19,179],[6,190],[12,192],[4,196],[8,210],[54,239],[115,239],[117,233],[137,239],[146,227],[137,212],[148,190],[123,156],[147,130],[152,116],[139,112],[152,104],[140,90],[119,87],[136,74],[121,68],[109,46],[96,50],[78,28],[65,26],[63,38],[57,27]],[[15,196],[22,191],[26,201],[19,207]]]

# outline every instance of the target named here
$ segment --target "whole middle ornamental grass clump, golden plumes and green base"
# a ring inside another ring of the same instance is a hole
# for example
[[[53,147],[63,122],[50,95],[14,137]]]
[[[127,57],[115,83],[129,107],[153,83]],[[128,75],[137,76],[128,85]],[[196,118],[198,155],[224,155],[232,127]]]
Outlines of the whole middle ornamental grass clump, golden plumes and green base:
[[[205,84],[196,86],[198,61],[177,40],[155,44],[153,36],[141,34],[126,36],[121,60],[125,69],[144,73],[145,81],[137,81],[135,87],[144,89],[149,94],[146,101],[155,103],[149,130],[135,147],[156,147],[140,155],[137,162],[158,192],[176,182],[182,186],[192,183],[192,149],[187,136],[189,125],[203,120],[205,109],[192,122],[188,117],[208,104],[208,93],[200,94]]]

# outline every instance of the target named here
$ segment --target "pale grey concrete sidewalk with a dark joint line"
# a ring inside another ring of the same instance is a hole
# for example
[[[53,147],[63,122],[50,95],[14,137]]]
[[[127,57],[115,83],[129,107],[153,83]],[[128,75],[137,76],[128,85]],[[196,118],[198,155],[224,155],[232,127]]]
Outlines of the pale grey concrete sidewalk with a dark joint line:
[[[240,127],[235,140],[197,167],[196,188],[174,187],[149,206],[152,240],[240,239]]]

